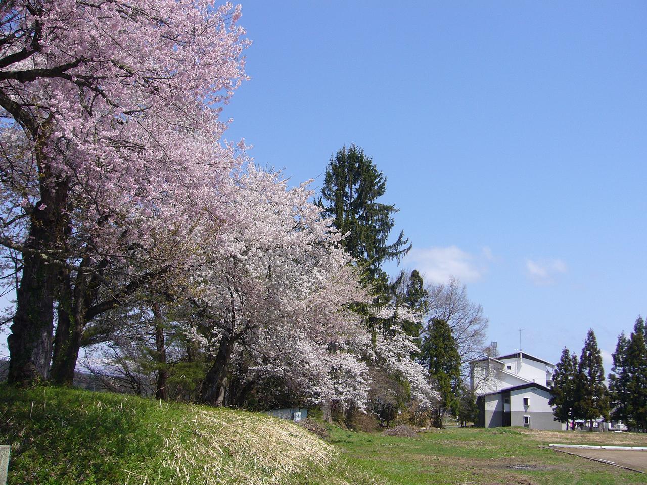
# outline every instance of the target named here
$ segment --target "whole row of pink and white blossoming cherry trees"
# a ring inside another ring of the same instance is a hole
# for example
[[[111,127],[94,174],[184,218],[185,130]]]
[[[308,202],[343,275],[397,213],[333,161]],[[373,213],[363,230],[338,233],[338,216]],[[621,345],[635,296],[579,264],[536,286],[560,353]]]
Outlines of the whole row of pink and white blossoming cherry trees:
[[[239,6],[0,8],[11,383],[69,385],[91,344],[128,369],[127,347],[141,352],[134,343],[150,334],[159,397],[170,366],[199,355],[193,397],[214,405],[280,380],[361,407],[369,363],[431,404],[412,339],[398,325],[369,331],[367,312],[351,311],[382,309],[307,185],[289,189],[246,160],[243,142],[223,140],[222,105],[247,79]]]

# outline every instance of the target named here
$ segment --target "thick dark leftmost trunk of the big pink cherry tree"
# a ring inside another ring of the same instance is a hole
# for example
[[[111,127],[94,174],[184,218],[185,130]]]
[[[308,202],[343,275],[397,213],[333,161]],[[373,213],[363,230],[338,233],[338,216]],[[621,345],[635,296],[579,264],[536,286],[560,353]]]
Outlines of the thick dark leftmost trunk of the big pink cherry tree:
[[[67,237],[67,184],[43,174],[23,249],[23,274],[16,290],[16,314],[7,338],[8,382],[27,385],[47,380],[52,359],[54,291],[63,242]]]

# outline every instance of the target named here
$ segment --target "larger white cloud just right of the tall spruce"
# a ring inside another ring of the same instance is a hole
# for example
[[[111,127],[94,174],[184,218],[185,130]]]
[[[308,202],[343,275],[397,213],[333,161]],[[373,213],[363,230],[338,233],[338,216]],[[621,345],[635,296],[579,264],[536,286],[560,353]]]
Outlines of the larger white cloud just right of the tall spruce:
[[[483,252],[487,259],[485,248]],[[404,259],[404,265],[417,269],[429,283],[447,283],[452,276],[469,283],[479,279],[485,272],[475,259],[474,255],[458,246],[435,246],[413,248]]]

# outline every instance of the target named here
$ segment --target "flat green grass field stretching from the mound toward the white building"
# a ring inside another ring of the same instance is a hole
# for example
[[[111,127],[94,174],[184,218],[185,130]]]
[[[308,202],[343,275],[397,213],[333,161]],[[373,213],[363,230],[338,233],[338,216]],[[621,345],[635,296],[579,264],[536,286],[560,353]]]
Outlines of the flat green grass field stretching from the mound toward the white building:
[[[549,443],[647,446],[647,435],[633,433],[450,428],[397,438],[333,429],[331,442],[352,468],[391,484],[647,484],[647,475],[540,447]]]

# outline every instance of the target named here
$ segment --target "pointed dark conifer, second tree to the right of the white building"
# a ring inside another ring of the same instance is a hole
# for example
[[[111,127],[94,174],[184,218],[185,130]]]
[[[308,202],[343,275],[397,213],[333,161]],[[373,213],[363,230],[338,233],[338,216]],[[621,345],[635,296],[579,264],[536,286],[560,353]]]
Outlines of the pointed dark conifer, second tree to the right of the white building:
[[[609,415],[609,391],[604,385],[602,354],[593,329],[586,335],[580,356],[578,395],[576,412],[580,418],[590,421],[589,429],[593,431],[593,420],[600,416],[607,418]]]

